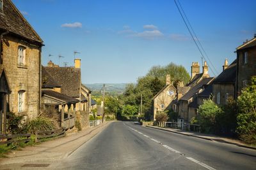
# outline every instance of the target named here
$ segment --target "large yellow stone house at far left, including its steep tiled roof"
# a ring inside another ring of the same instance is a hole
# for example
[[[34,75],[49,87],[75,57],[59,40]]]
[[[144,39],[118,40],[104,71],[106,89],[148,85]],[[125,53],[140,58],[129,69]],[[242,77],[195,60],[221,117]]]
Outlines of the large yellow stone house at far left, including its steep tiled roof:
[[[6,113],[27,119],[40,111],[43,41],[10,0],[0,3],[0,132]]]

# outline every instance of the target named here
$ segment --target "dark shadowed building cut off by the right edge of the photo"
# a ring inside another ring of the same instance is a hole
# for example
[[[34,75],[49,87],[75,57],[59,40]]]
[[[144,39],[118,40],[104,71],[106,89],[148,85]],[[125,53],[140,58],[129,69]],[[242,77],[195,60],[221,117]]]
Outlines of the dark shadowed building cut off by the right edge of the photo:
[[[237,53],[237,96],[241,90],[248,85],[252,76],[256,75],[256,34],[250,41],[236,48]],[[237,97],[236,96],[236,97]]]

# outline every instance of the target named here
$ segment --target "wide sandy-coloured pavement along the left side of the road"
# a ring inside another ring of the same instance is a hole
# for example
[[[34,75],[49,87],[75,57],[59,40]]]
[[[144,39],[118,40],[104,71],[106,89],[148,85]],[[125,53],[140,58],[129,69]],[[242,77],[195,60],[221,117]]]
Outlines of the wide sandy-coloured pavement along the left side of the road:
[[[8,153],[8,158],[0,159],[0,169],[42,169],[61,159],[65,159],[97,133],[108,127],[111,122],[104,122],[95,127],[88,127],[81,132],[68,134],[64,138],[54,139],[21,150]]]

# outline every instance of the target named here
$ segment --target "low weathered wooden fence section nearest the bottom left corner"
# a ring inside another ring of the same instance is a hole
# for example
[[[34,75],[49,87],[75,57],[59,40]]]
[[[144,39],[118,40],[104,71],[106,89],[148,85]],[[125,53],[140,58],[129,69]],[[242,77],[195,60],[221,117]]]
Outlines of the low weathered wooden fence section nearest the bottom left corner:
[[[0,145],[10,143],[28,143],[31,134],[0,134]]]

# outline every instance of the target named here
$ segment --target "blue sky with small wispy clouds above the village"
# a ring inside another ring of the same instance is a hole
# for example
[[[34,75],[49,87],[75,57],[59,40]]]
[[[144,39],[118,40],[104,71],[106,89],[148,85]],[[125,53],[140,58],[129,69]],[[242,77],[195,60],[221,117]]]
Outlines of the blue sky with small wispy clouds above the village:
[[[218,76],[224,60],[236,59],[237,46],[256,33],[256,1],[179,2]],[[42,64],[52,60],[74,66],[74,51],[79,52],[83,83],[135,83],[150,67],[170,62],[184,66],[189,74],[192,62],[202,66],[200,52],[172,0],[13,3],[44,41]]]

